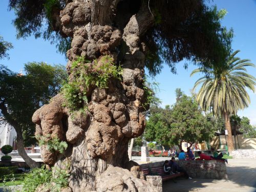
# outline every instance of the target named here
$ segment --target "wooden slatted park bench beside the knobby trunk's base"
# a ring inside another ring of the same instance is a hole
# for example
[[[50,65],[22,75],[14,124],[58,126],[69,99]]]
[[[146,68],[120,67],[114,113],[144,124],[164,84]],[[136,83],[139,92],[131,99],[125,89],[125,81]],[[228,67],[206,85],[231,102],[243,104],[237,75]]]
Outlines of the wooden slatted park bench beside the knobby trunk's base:
[[[140,169],[145,176],[161,176],[162,181],[166,181],[168,179],[175,179],[176,177],[183,176],[184,173],[167,175],[164,173],[163,167],[156,167],[156,168],[142,168]]]

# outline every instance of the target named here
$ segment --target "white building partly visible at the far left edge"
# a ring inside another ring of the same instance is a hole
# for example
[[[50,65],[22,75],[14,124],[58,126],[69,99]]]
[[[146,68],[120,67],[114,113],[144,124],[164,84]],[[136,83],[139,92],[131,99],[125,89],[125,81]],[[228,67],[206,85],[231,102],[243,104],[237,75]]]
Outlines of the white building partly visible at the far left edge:
[[[15,146],[16,132],[4,118],[0,118],[0,148],[4,145],[11,145],[13,149]]]

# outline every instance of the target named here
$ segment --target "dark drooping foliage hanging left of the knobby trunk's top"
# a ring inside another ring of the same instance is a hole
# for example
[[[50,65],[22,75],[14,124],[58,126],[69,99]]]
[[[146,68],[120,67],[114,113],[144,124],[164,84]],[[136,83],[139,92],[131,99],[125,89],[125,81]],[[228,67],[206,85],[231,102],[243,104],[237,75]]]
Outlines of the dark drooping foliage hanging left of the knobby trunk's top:
[[[66,54],[70,48],[70,38],[63,38],[56,26],[56,19],[53,17],[66,5],[65,0],[10,0],[9,9],[13,9],[16,18],[13,24],[16,27],[17,38],[26,38],[34,35],[35,38],[43,37],[56,44],[60,53]],[[54,28],[55,27],[55,28]]]

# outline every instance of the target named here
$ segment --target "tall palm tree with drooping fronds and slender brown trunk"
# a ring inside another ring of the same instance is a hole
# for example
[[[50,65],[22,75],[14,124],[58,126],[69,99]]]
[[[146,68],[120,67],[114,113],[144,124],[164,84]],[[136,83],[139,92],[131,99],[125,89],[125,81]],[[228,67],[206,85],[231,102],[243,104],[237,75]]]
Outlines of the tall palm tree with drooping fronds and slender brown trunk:
[[[225,119],[225,126],[228,132],[228,151],[234,150],[232,142],[232,132],[230,125],[230,115],[236,114],[238,110],[243,110],[250,103],[250,97],[246,88],[254,92],[255,78],[247,74],[245,67],[255,67],[249,59],[240,59],[233,52],[221,67],[212,69],[196,69],[195,73],[204,72],[205,76],[199,78],[195,85],[195,90],[200,84],[197,94],[197,101],[204,111],[210,110],[215,116],[222,116]]]

